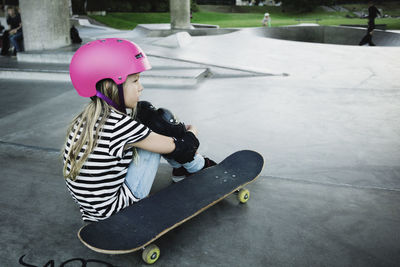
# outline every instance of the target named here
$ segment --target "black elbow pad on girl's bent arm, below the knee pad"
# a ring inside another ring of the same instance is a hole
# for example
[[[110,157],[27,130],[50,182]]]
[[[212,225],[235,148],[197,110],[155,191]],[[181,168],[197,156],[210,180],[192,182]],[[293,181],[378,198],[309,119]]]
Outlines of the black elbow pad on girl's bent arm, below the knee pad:
[[[180,164],[193,161],[194,155],[200,146],[199,140],[192,133],[187,131],[182,138],[174,138],[175,150],[164,155]]]

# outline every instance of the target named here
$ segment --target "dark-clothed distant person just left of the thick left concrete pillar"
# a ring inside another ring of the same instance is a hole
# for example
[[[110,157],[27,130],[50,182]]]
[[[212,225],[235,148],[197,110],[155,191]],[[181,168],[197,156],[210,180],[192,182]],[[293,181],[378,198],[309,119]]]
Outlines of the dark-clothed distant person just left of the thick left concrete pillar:
[[[21,15],[17,12],[15,7],[9,6],[7,8],[7,24],[9,25],[9,39],[10,43],[14,46],[14,55],[17,52],[23,51],[22,47],[22,22]]]

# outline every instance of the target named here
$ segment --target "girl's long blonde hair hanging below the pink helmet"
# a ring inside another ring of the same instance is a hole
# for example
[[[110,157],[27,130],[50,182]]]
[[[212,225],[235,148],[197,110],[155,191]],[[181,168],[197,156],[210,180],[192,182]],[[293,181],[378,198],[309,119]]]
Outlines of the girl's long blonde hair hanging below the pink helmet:
[[[96,84],[96,88],[114,103],[120,104],[118,88],[113,80],[101,80]],[[63,175],[65,179],[74,181],[78,176],[83,164],[97,145],[99,133],[102,131],[111,109],[114,108],[104,100],[99,97],[93,97],[83,111],[72,119],[64,145],[64,149],[66,149],[69,143],[68,154],[64,156]],[[114,110],[119,112],[116,109]],[[132,113],[132,117],[134,115],[135,112]],[[71,139],[69,138],[70,135],[72,136]],[[82,149],[84,150],[83,154],[81,154]]]

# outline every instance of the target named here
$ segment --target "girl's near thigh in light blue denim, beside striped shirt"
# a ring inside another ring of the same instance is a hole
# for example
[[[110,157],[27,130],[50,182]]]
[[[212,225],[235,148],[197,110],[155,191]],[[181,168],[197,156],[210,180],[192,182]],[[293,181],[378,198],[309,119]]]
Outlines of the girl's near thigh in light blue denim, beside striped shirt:
[[[160,154],[137,148],[138,160],[129,165],[125,178],[125,184],[132,194],[139,198],[149,195],[154,178],[156,177]]]

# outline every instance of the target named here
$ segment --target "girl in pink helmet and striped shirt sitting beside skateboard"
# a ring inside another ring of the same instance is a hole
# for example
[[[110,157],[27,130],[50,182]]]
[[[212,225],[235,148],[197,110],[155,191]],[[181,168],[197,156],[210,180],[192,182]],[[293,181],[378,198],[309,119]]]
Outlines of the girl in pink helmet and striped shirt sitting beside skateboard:
[[[172,138],[135,120],[140,73],[150,68],[136,44],[116,38],[87,43],[71,60],[72,84],[91,102],[68,129],[63,174],[85,221],[106,219],[145,198],[161,154],[181,178],[215,165],[196,153],[193,126]]]

